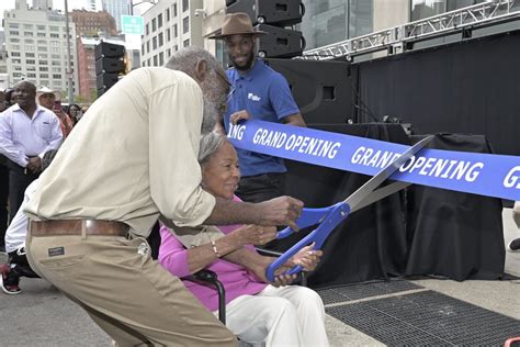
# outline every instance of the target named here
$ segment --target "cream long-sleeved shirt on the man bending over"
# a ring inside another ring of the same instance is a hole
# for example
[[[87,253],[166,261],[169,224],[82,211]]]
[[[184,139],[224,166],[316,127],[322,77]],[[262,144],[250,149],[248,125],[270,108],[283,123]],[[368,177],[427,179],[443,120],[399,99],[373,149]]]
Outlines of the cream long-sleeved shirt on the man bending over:
[[[25,212],[120,221],[142,236],[159,214],[179,226],[202,224],[215,205],[200,187],[202,112],[202,90],[188,75],[133,70],[89,108]]]

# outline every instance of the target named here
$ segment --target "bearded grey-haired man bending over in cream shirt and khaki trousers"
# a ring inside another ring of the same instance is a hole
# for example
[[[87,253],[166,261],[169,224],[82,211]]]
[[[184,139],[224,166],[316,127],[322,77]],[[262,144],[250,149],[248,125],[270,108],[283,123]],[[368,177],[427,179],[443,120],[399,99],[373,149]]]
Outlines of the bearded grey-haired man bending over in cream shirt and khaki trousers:
[[[178,52],[166,67],[132,71],[90,107],[25,210],[32,219],[31,267],[117,345],[236,345],[182,282],[151,259],[145,237],[159,216],[177,226],[296,227],[298,200],[239,203],[201,188],[201,132],[214,127],[227,91],[219,63],[197,47]],[[226,259],[262,276],[247,249]]]

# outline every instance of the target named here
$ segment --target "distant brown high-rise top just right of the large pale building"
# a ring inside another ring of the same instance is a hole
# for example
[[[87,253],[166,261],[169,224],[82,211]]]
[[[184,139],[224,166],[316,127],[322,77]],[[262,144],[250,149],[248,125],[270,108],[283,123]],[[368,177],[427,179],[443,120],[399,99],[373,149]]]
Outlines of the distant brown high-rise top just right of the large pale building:
[[[74,10],[70,18],[76,24],[78,36],[113,36],[117,35],[114,18],[106,11],[91,12]]]

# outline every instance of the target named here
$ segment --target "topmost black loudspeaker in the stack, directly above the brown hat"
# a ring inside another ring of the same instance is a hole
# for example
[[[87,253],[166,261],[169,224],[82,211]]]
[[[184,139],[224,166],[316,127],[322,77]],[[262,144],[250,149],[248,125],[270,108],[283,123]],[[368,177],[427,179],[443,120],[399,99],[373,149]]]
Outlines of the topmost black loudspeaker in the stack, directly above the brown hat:
[[[245,12],[252,24],[294,25],[302,22],[305,5],[301,0],[238,0],[227,4],[226,13]]]

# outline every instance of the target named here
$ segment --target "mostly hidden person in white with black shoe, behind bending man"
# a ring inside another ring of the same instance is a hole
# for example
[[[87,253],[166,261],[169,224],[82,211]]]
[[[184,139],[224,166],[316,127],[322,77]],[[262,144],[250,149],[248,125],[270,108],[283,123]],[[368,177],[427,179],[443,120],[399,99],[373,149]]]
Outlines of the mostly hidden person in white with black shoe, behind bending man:
[[[57,149],[45,153],[42,159],[42,170],[45,170],[53,161]],[[5,294],[20,294],[20,278],[38,278],[39,276],[33,271],[25,256],[25,236],[27,235],[29,217],[23,213],[23,209],[27,205],[37,190],[39,180],[35,179],[27,189],[20,209],[14,219],[9,224],[5,232],[5,253],[9,256],[8,264],[0,265],[0,287]]]

